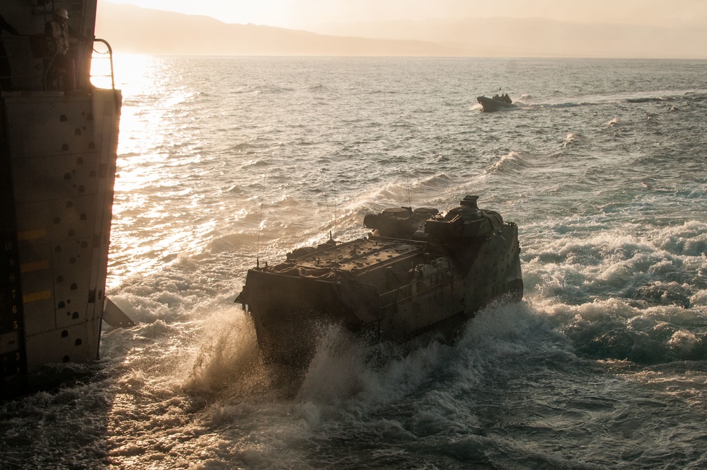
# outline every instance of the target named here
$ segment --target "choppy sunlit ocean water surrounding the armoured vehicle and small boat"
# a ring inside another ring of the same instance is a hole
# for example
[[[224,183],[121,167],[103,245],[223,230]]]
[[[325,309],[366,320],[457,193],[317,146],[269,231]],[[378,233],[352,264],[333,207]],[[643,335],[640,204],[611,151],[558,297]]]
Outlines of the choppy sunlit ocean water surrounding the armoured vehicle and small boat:
[[[2,468],[707,468],[707,62],[115,68],[108,294],[138,324],[0,403]],[[481,113],[500,88],[519,109]],[[518,224],[522,302],[375,367],[335,328],[301,383],[263,364],[256,258],[467,194]]]

